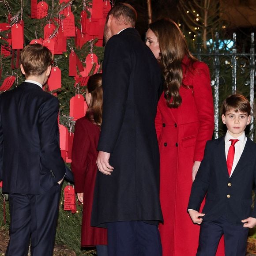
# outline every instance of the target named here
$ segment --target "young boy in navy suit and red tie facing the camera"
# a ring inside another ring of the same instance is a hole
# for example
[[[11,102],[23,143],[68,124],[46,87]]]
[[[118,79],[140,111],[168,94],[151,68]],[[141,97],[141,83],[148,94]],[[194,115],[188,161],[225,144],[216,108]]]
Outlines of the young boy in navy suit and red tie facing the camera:
[[[244,96],[226,98],[222,106],[226,135],[206,144],[188,203],[192,221],[201,225],[197,256],[214,256],[222,235],[225,256],[246,254],[248,228],[256,225],[256,207],[251,210],[256,144],[245,136],[250,112],[250,103]]]

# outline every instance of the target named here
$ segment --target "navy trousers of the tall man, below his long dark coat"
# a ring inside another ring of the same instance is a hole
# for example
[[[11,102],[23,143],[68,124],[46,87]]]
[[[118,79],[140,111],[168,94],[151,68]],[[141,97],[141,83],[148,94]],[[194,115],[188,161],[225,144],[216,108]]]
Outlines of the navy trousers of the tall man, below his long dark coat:
[[[142,221],[109,222],[108,256],[162,256],[158,226]]]

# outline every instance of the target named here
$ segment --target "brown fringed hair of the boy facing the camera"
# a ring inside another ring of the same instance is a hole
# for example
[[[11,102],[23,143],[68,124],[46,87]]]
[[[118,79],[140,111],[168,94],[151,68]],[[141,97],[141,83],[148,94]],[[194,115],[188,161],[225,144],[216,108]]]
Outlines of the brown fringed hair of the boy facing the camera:
[[[222,114],[225,115],[227,111],[234,109],[242,113],[247,113],[248,116],[251,114],[251,105],[248,99],[241,94],[233,94],[226,98],[222,105]]]

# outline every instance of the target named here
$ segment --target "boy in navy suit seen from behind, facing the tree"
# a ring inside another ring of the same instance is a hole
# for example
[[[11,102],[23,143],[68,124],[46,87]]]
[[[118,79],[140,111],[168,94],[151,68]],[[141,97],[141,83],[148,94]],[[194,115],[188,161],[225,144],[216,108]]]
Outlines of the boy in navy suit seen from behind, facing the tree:
[[[59,101],[42,90],[53,55],[45,46],[21,53],[25,82],[0,94],[0,180],[9,194],[7,256],[51,256],[65,175],[60,154]]]

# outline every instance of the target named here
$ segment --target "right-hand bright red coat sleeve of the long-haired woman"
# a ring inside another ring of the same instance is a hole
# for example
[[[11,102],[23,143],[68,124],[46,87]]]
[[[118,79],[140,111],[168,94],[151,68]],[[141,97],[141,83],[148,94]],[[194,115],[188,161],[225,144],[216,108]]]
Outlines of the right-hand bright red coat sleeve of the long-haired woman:
[[[203,62],[197,62],[194,66],[193,95],[200,126],[193,160],[202,161],[205,144],[212,139],[214,131],[214,107],[209,68]]]

